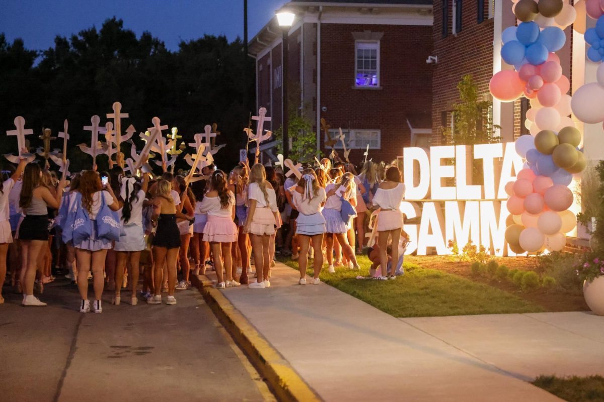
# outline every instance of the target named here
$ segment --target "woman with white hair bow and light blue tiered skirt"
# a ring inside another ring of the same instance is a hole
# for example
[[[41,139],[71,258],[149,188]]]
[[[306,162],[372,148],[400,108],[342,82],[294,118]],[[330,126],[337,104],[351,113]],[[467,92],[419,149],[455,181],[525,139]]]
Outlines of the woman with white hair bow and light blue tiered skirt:
[[[294,204],[300,212],[297,218],[296,233],[300,236],[300,256],[298,266],[300,268],[299,284],[306,284],[306,266],[308,263],[308,250],[310,242],[315,251],[313,261],[314,275],[312,284],[319,284],[319,274],[323,267],[323,236],[326,232],[325,218],[321,215],[321,207],[327,196],[325,189],[321,187],[312,169],[304,169],[298,186],[292,193]]]

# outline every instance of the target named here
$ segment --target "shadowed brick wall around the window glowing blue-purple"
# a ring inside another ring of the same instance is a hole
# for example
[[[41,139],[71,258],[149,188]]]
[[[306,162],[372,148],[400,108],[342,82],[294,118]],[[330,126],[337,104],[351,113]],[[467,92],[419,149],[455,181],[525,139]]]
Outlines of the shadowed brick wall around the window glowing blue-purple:
[[[353,32],[384,33],[380,43],[381,90],[355,89]],[[321,25],[321,111],[332,128],[379,129],[381,149],[370,149],[373,160],[393,160],[410,144],[406,118],[429,126],[432,104],[432,27],[411,25]],[[420,128],[420,127],[417,127]],[[429,128],[429,127],[424,127]],[[324,137],[321,136],[324,152]],[[364,149],[353,149],[350,160],[361,162]]]

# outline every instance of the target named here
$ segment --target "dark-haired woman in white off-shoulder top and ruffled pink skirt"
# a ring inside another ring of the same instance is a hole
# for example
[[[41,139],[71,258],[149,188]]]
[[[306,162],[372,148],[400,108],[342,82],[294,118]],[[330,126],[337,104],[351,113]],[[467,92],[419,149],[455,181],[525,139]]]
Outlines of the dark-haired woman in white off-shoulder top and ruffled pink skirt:
[[[215,171],[211,178],[211,190],[205,195],[198,211],[208,214],[208,222],[204,227],[204,240],[210,242],[214,256],[214,269],[218,283],[217,289],[240,286],[233,279],[233,258],[231,243],[237,241],[237,226],[235,225],[235,196],[226,187],[226,174]],[[222,269],[226,271],[226,281]]]

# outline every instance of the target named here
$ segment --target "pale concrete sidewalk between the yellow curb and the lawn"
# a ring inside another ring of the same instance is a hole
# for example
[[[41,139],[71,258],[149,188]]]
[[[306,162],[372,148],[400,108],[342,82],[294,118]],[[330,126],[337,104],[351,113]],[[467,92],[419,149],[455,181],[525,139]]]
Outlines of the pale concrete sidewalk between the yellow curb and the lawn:
[[[270,289],[223,295],[326,401],[559,401],[527,381],[604,374],[603,317],[399,319],[297,281],[297,271],[277,263]]]

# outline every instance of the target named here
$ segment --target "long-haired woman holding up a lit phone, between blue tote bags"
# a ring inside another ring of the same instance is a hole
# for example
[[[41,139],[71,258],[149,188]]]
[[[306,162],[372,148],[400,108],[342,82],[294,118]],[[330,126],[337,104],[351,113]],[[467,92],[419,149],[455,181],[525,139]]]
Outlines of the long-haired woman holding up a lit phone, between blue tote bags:
[[[77,193],[82,195],[82,201],[79,206],[74,206],[76,203]],[[88,212],[88,217],[92,221],[92,233],[88,239],[82,240],[74,244],[76,248],[76,261],[78,268],[77,286],[80,291],[82,300],[80,301],[80,313],[88,313],[90,311],[90,301],[88,300],[88,272],[92,270],[92,280],[94,283],[94,304],[92,310],[95,313],[102,313],[103,306],[101,304],[101,296],[103,295],[103,269],[105,266],[105,258],[107,250],[112,248],[112,242],[109,239],[98,237],[97,214],[101,210],[104,202],[109,209],[117,211],[120,209],[120,204],[115,197],[111,185],[104,187],[101,184],[101,177],[95,171],[85,171],[80,177],[80,186],[77,193],[72,193],[69,197],[69,209],[82,208]]]

